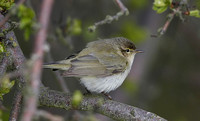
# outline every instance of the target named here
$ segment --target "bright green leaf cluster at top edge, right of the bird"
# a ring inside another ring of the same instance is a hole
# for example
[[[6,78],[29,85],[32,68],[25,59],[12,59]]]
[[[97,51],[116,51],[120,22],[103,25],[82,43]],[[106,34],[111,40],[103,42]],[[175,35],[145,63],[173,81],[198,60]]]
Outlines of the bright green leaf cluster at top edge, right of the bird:
[[[171,5],[172,0],[154,0],[153,10],[157,13],[163,13]]]

